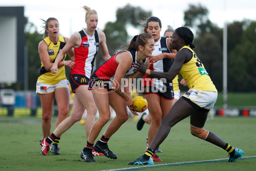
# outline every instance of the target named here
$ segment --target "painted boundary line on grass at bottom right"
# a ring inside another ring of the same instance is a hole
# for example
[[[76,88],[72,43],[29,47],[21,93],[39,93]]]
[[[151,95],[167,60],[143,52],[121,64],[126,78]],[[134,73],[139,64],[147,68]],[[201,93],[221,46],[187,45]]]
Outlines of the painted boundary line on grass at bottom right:
[[[243,160],[243,159],[256,159],[256,156],[242,157],[238,160]],[[165,164],[159,164],[159,165],[140,165],[140,166],[136,166],[136,167],[118,168],[118,169],[110,169],[110,170],[102,170],[102,171],[139,171],[139,170],[144,170],[147,168],[161,168],[161,167],[180,166],[180,165],[195,165],[195,164],[199,164],[199,163],[226,162],[226,161],[227,161],[227,158],[222,158],[222,159],[190,161],[190,162],[165,163]]]

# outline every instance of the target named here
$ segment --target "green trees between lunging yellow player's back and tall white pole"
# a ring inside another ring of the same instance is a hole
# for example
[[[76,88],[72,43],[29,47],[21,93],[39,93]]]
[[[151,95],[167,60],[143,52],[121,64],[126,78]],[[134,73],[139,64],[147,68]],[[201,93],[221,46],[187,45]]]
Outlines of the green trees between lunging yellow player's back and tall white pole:
[[[209,20],[208,9],[201,4],[190,4],[184,12],[184,21],[185,26],[197,30],[194,38],[195,52],[216,88],[222,90],[222,29]]]

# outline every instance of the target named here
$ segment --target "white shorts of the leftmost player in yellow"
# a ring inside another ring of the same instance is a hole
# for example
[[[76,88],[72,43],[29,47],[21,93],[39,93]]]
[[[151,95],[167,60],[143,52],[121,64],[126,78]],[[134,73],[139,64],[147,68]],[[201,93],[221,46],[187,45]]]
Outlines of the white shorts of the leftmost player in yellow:
[[[67,79],[61,80],[61,81],[59,81],[59,82],[58,82],[57,84],[55,84],[55,85],[44,84],[44,83],[41,83],[41,82],[37,81],[35,93],[37,93],[37,94],[52,93],[52,92],[54,92],[54,90],[55,90],[56,88],[63,88],[63,87],[69,89],[68,83],[69,83],[69,82],[68,82]]]

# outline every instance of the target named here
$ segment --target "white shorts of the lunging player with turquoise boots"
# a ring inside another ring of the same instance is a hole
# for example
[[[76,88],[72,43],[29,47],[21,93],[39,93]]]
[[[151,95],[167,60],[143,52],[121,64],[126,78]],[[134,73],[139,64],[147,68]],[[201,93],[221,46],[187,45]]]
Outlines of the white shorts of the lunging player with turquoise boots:
[[[217,100],[218,92],[189,89],[183,96],[199,107],[212,109]]]

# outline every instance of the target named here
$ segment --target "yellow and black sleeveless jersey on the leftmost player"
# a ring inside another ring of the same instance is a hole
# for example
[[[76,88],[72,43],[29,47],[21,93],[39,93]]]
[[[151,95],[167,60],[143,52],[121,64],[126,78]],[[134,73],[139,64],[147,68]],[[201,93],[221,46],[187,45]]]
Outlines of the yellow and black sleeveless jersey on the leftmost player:
[[[45,38],[44,41],[48,45],[48,54],[49,54],[50,62],[54,63],[55,58],[58,55],[58,52],[60,52],[61,49],[63,49],[63,47],[66,44],[65,39],[62,36],[59,36],[58,42],[56,44],[54,44],[52,41],[50,41],[49,37]],[[66,54],[64,55],[64,58],[62,59],[62,61],[64,61],[65,58],[66,58]],[[58,68],[58,73],[55,75],[51,71],[47,71],[44,68],[44,64],[41,60],[41,69],[39,71],[38,81],[40,81],[44,84],[55,85],[59,81],[64,80],[64,79],[67,79],[67,77],[65,75],[65,66]]]

